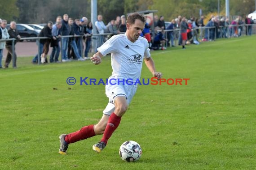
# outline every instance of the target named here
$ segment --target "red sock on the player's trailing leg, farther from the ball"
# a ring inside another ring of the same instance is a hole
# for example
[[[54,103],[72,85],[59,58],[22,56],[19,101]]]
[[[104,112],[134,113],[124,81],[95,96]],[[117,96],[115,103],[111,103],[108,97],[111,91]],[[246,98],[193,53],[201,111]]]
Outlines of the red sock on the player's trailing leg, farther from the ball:
[[[89,137],[95,136],[95,132],[93,130],[93,124],[82,127],[79,131],[67,134],[65,136],[65,141],[68,144],[77,142],[79,140],[84,140]]]

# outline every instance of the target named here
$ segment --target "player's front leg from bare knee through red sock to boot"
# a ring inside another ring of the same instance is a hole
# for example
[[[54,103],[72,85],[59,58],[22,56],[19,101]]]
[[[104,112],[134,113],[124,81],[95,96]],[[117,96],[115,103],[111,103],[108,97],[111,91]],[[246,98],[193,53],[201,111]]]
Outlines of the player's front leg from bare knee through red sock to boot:
[[[121,117],[124,115],[127,108],[128,104],[125,96],[118,96],[115,98],[115,111],[110,115],[107,121],[106,129],[103,133],[101,141],[93,145],[93,150],[95,152],[101,153],[102,149],[106,147],[108,139],[119,126]]]

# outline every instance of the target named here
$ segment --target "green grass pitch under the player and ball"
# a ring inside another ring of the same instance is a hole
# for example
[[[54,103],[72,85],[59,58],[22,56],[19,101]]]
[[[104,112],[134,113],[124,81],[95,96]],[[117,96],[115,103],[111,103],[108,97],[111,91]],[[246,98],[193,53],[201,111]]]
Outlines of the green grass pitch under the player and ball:
[[[0,70],[1,170],[252,170],[256,168],[256,36],[222,39],[152,57],[163,78],[188,85],[141,85],[100,154],[102,136],[58,154],[62,133],[97,123],[108,99],[104,85],[67,85],[70,76],[107,78],[110,57]],[[141,78],[150,78],[145,64]],[[71,89],[68,89],[71,87]],[[53,90],[57,88],[57,90]],[[126,163],[119,147],[137,141],[142,157]]]

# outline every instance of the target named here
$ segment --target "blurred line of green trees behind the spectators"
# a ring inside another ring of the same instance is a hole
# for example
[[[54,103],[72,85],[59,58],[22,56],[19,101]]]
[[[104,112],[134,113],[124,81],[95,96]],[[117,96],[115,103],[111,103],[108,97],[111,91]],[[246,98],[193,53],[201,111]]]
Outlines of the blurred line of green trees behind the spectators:
[[[178,15],[199,17],[216,13],[218,0],[97,0],[97,13],[108,22],[116,16],[142,11],[158,10],[158,14],[170,21]],[[255,0],[230,0],[230,15],[245,15],[255,10]],[[55,21],[58,15],[91,17],[91,0],[0,0],[0,18],[18,23],[46,23]],[[220,13],[225,14],[225,0],[220,0]]]

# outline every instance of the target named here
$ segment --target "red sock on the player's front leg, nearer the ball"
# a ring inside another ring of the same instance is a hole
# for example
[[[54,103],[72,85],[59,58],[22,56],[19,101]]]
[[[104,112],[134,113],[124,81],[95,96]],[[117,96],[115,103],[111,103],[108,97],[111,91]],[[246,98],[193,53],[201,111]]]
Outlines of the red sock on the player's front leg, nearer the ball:
[[[108,139],[110,138],[112,133],[115,131],[115,129],[118,127],[120,121],[121,121],[121,117],[115,115],[114,112],[110,115],[110,118],[108,119],[108,122],[106,125],[106,129],[103,133],[103,137],[101,140],[102,142],[107,144]]]

